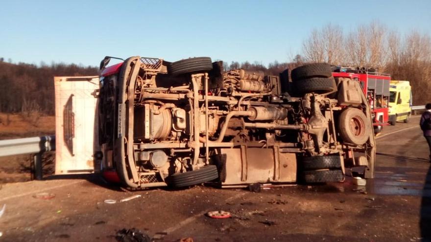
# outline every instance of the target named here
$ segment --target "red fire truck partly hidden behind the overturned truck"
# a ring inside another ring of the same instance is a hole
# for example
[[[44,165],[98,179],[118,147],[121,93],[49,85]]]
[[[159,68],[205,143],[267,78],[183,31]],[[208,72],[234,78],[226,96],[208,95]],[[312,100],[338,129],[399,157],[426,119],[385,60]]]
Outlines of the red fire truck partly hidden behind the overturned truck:
[[[352,78],[359,82],[371,107],[374,132],[381,132],[383,125],[388,125],[389,119],[390,75],[369,67],[334,66],[333,76]]]

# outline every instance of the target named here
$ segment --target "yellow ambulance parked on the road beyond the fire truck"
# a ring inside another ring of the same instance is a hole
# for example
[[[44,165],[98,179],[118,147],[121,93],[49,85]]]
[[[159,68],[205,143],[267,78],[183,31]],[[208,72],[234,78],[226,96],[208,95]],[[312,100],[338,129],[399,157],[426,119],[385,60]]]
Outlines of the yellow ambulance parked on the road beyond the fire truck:
[[[409,81],[390,81],[389,86],[389,123],[410,120],[412,95]]]

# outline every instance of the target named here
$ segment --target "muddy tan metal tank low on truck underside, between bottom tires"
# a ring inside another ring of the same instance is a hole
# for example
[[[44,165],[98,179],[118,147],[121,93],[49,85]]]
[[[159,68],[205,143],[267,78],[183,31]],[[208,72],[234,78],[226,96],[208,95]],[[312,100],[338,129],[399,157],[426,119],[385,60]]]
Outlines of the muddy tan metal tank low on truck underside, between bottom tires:
[[[222,185],[296,182],[296,156],[278,149],[221,149],[226,154],[226,180]],[[278,157],[277,157],[278,154]]]

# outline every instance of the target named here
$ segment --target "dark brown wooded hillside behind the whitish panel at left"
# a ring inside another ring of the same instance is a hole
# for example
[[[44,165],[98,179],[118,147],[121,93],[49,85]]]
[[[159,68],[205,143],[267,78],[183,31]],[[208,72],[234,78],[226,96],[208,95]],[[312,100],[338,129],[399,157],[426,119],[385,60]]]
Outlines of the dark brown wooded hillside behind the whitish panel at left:
[[[98,68],[93,66],[11,64],[0,58],[0,112],[38,111],[53,115],[54,76],[97,74]]]

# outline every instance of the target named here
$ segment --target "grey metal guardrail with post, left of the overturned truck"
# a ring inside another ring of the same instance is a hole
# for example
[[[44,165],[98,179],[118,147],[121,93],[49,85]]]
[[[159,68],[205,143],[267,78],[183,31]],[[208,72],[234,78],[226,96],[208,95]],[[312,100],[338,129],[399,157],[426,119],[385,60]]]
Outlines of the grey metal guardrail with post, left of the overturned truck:
[[[0,156],[34,154],[34,177],[42,180],[42,154],[55,151],[55,135],[0,140]]]

